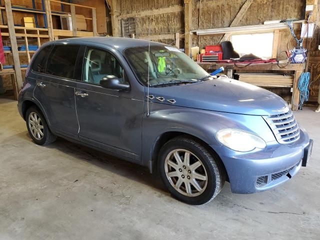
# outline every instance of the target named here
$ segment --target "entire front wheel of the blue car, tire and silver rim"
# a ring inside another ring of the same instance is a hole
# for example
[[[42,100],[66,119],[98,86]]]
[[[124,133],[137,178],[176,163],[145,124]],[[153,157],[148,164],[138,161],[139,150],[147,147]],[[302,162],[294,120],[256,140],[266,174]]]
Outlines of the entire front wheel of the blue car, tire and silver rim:
[[[177,199],[188,204],[212,200],[224,184],[224,171],[217,156],[188,137],[176,137],[160,149],[161,178]]]

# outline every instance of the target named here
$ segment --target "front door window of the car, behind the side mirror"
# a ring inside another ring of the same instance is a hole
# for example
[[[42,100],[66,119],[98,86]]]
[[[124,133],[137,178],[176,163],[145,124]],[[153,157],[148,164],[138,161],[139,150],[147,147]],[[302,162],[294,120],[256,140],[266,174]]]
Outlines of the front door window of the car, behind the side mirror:
[[[83,80],[99,84],[106,75],[116,76],[121,83],[127,84],[123,78],[123,68],[119,61],[108,51],[87,47],[83,62]]]

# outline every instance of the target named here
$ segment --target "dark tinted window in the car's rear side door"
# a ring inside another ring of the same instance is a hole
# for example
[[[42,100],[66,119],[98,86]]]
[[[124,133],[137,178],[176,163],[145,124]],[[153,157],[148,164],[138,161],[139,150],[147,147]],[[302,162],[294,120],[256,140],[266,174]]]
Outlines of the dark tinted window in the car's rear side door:
[[[80,46],[55,45],[46,64],[46,73],[64,78],[73,78],[74,65]]]

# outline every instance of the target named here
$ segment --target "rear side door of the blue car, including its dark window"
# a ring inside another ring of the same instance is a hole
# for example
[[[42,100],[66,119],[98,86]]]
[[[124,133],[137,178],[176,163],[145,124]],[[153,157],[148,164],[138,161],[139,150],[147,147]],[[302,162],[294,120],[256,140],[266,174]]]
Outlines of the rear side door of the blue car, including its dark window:
[[[74,88],[75,80],[81,77],[81,68],[77,69],[76,62],[80,59],[82,63],[83,53],[79,58],[78,55],[81,55],[79,45],[54,45],[42,66],[44,70],[34,74],[37,81],[34,97],[42,104],[53,130],[69,136],[76,136],[79,128]]]

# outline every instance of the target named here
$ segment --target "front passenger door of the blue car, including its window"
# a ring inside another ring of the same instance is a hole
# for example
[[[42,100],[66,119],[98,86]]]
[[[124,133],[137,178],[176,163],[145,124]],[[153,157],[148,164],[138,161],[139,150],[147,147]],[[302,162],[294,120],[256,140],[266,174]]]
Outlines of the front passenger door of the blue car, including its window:
[[[140,160],[143,100],[130,90],[119,91],[99,85],[105,75],[128,83],[123,68],[109,51],[86,47],[82,82],[75,89],[79,137],[118,155]]]

